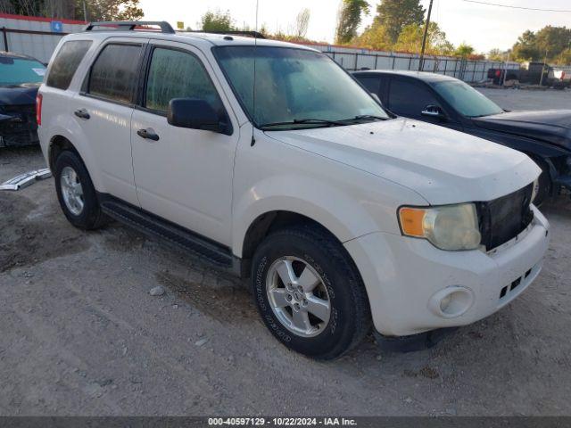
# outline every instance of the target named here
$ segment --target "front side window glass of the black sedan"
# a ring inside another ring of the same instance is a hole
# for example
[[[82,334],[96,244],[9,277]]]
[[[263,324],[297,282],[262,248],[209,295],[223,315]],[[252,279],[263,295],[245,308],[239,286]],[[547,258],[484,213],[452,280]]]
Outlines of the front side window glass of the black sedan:
[[[428,105],[439,106],[430,90],[418,83],[393,78],[389,88],[389,109],[399,116],[419,118]]]

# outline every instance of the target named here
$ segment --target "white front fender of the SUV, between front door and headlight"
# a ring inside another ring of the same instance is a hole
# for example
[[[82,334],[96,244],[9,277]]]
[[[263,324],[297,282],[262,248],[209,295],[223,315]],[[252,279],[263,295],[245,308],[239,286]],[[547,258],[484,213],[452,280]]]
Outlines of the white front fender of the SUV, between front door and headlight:
[[[245,135],[245,134],[244,134]],[[341,243],[372,232],[400,233],[397,209],[428,202],[408,187],[256,133],[237,146],[232,202],[232,251],[261,215],[301,214]]]

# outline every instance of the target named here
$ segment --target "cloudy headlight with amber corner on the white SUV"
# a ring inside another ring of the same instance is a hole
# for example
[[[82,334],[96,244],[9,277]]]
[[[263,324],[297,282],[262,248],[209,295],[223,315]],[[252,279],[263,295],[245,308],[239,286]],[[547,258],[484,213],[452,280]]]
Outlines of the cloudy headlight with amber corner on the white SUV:
[[[441,250],[476,250],[482,241],[473,203],[401,207],[399,223],[402,235],[425,238]]]

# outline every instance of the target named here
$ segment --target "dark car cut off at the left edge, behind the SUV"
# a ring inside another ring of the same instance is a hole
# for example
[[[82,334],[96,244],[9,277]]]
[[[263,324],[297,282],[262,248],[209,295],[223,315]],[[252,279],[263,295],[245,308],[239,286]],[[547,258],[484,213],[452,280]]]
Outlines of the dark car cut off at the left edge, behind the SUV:
[[[0,147],[38,143],[36,95],[45,73],[34,58],[0,52]]]

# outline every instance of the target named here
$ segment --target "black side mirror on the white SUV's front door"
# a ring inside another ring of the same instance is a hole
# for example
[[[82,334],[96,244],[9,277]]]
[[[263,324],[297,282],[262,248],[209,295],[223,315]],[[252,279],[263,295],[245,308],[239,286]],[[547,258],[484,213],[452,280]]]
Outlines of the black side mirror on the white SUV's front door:
[[[220,118],[210,103],[196,98],[173,98],[169,102],[167,121],[173,127],[203,129],[232,134],[228,121]]]

